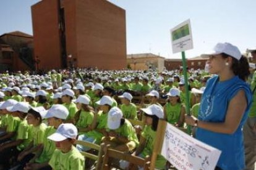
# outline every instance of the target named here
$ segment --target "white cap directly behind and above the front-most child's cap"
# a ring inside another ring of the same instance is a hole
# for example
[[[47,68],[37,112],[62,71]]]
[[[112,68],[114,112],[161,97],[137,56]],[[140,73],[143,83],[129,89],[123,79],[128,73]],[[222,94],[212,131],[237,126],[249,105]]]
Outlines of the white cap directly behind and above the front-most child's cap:
[[[69,110],[67,110],[64,105],[56,104],[53,105],[49,110],[46,112],[45,118],[59,118],[59,119],[66,119],[69,115]]]

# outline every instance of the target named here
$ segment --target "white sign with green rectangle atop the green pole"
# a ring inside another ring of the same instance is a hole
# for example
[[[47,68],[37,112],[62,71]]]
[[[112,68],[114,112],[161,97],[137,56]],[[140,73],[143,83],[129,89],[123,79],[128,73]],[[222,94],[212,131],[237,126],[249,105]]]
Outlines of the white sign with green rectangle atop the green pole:
[[[193,49],[190,20],[186,20],[171,29],[171,42],[173,53]]]

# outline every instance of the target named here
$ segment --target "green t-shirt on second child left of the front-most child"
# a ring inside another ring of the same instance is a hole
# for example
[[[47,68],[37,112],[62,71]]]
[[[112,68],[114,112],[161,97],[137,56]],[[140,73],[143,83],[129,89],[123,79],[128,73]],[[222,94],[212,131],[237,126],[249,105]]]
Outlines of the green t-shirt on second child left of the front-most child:
[[[37,146],[39,144],[43,144],[43,137],[45,137],[46,124],[41,123],[39,126],[33,126],[33,145]]]

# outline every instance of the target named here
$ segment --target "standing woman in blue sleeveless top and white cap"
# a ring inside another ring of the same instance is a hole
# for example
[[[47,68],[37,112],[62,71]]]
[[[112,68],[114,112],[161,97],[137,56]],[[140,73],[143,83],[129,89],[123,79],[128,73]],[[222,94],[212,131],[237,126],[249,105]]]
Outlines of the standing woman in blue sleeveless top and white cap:
[[[242,126],[252,103],[252,92],[245,83],[249,63],[236,46],[218,43],[208,54],[209,79],[203,92],[198,119],[186,116],[196,126],[196,137],[221,150],[216,169],[244,169]]]

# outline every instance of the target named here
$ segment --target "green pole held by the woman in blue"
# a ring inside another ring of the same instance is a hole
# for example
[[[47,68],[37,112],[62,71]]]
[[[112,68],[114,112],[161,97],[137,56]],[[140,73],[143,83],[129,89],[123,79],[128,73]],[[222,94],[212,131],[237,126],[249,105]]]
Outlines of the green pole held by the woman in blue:
[[[186,92],[186,114],[190,115],[190,101],[189,101],[189,84],[187,81],[187,62],[186,62],[186,55],[185,52],[181,52],[182,55],[182,67],[183,67],[183,75],[184,75],[184,81],[185,81],[185,92]],[[187,127],[187,133],[190,135],[191,134],[191,127]]]

